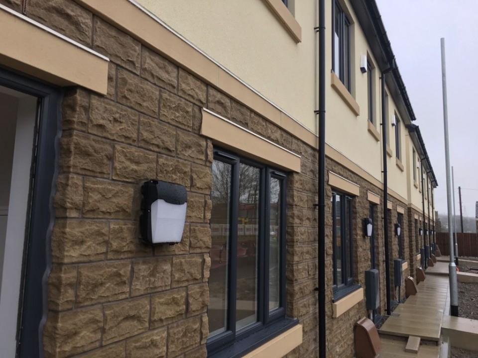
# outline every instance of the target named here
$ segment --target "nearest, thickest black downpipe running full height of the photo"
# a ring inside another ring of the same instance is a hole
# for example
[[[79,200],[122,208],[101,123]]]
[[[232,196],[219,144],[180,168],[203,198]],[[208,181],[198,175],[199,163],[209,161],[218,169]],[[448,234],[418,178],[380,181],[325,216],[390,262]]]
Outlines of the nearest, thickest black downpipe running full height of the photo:
[[[318,270],[319,270],[319,358],[326,358],[325,332],[325,0],[318,0],[319,7],[319,221],[318,221]]]

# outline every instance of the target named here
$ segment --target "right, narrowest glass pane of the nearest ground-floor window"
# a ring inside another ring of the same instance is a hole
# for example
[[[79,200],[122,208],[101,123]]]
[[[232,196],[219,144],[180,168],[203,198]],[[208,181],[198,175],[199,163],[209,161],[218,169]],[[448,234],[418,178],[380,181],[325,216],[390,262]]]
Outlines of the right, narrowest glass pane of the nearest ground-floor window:
[[[280,183],[279,179],[270,179],[269,311],[280,304]]]

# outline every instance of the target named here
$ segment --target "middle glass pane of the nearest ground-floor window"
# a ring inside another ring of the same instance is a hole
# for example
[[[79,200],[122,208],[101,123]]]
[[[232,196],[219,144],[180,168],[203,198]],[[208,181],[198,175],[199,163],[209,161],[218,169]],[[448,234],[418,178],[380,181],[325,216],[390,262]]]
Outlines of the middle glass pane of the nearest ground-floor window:
[[[236,330],[257,321],[257,240],[260,170],[239,165],[239,228]],[[241,228],[240,226],[243,226]]]

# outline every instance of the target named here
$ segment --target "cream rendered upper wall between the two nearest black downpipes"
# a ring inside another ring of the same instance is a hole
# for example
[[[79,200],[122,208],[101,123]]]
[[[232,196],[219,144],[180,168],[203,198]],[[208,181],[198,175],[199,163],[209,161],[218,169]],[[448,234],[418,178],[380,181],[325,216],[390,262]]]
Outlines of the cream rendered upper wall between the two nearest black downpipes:
[[[359,104],[360,114],[356,116],[352,112],[345,100],[331,87],[330,76],[326,76],[326,141],[363,170],[381,181],[381,141],[377,142],[367,130],[367,74],[362,74],[359,69],[360,55],[367,55],[368,53],[372,63],[376,63],[376,61],[373,55],[368,52],[367,41],[349,1],[344,2],[343,9],[349,14],[349,20],[354,23],[351,27],[351,93]],[[332,24],[332,0],[326,1],[326,28],[334,28]],[[326,36],[326,53],[326,73],[329,73],[332,71],[332,36],[330,31],[327,32]],[[373,72],[375,77],[374,108],[377,114],[374,124],[377,131],[380,132],[379,74],[378,71]]]

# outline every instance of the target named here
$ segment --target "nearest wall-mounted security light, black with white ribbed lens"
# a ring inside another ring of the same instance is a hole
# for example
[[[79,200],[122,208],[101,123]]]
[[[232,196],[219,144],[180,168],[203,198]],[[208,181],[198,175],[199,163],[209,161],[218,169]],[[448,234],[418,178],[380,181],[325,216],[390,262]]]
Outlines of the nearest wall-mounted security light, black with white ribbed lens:
[[[141,194],[141,239],[150,244],[180,242],[188,199],[184,185],[149,180],[141,186]]]

